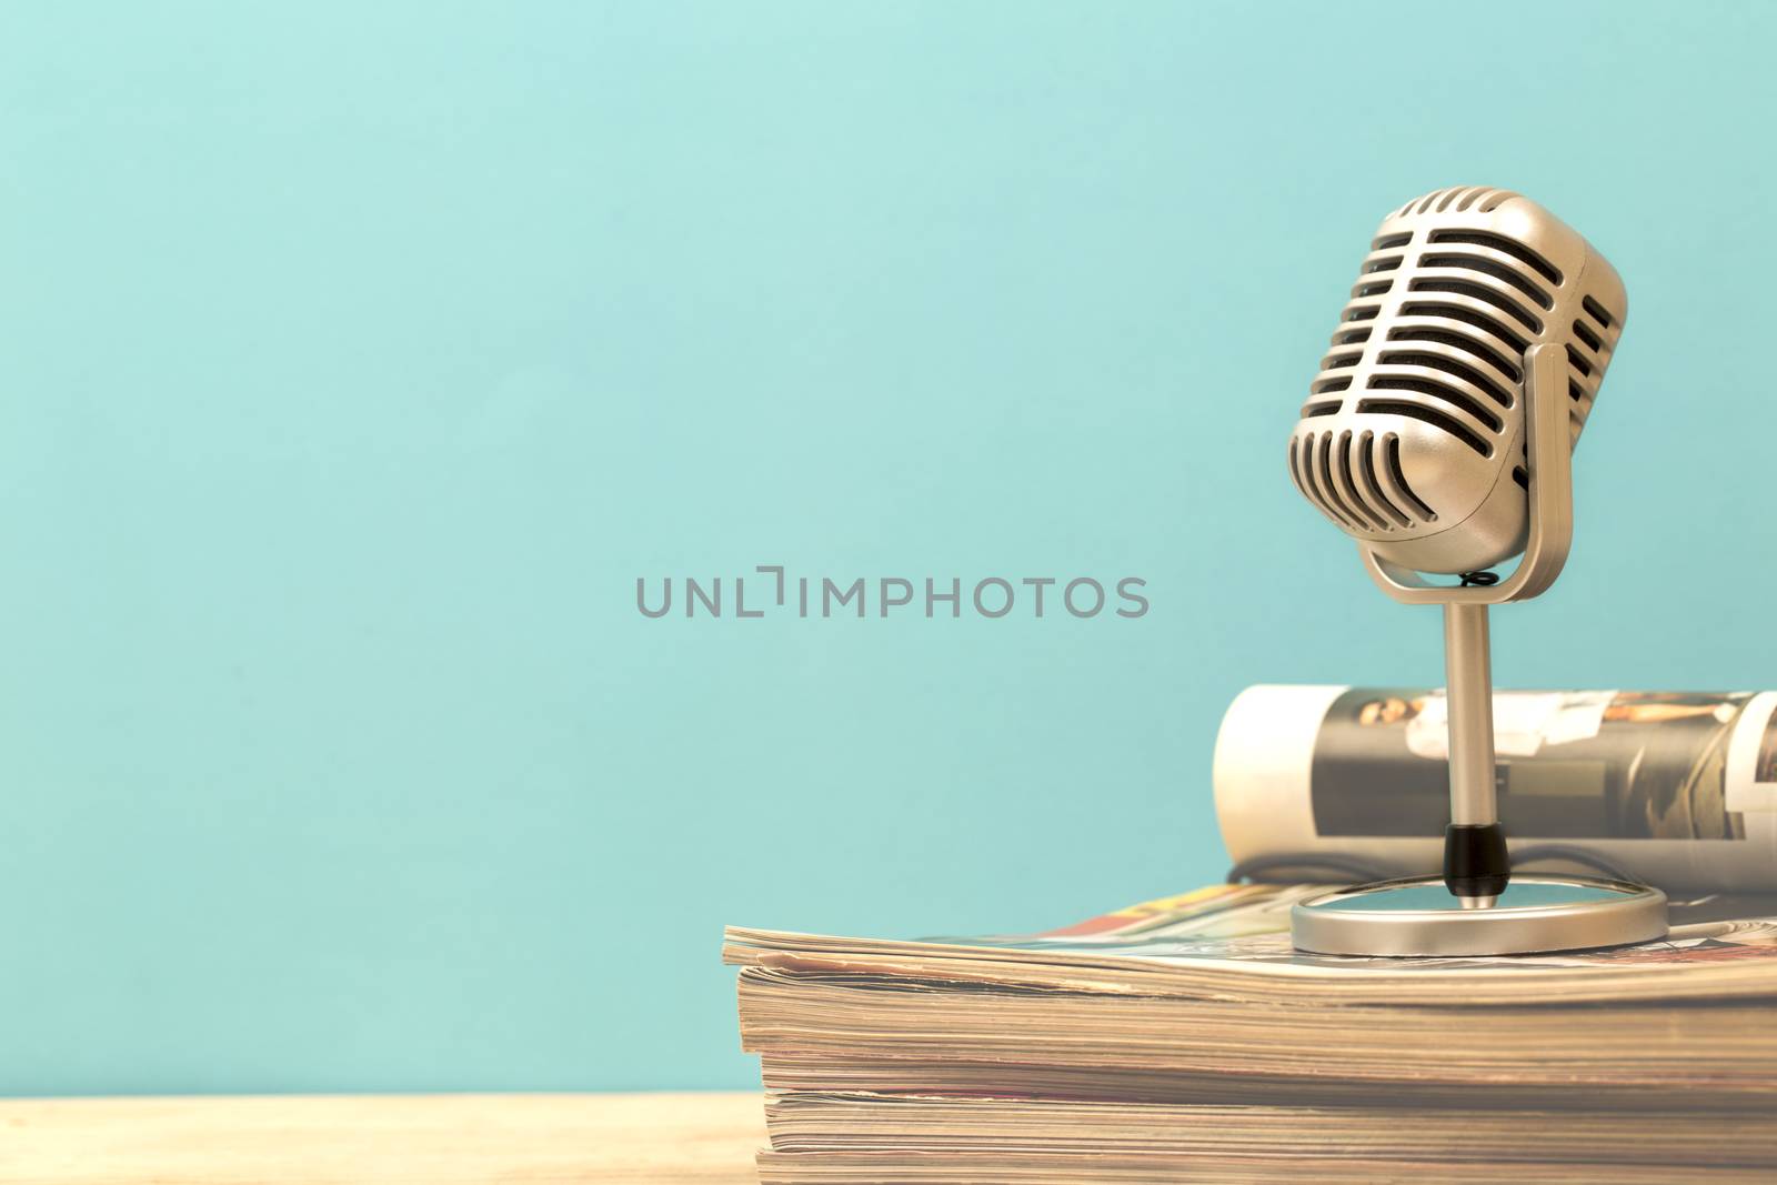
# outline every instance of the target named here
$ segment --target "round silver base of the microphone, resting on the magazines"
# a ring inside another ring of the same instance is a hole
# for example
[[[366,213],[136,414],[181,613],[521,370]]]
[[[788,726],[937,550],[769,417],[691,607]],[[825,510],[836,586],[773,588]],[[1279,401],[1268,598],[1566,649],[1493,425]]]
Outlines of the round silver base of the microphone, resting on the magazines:
[[[1514,876],[1491,904],[1459,901],[1443,878],[1422,876],[1326,892],[1290,910],[1295,947],[1317,954],[1546,954],[1665,934],[1658,888],[1576,876]]]

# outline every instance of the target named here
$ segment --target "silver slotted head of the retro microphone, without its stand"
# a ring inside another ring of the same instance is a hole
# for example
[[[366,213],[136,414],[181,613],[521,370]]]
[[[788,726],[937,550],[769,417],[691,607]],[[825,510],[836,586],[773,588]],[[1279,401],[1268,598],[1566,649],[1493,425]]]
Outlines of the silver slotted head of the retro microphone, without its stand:
[[[1510,560],[1530,524],[1525,352],[1566,346],[1578,441],[1626,313],[1610,261],[1528,197],[1414,197],[1375,229],[1308,389],[1290,435],[1295,487],[1402,567]]]

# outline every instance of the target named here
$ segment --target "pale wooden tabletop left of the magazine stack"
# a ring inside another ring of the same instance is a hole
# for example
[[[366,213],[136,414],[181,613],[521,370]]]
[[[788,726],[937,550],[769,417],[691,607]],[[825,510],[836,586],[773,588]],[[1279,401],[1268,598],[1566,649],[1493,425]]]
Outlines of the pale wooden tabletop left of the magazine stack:
[[[753,1185],[745,1094],[0,1100],[5,1185]]]

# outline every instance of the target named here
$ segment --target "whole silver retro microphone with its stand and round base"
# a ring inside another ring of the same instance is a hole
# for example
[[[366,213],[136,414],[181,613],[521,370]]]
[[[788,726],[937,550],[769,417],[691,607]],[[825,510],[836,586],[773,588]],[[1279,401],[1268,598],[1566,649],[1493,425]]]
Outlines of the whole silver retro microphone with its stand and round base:
[[[1288,464],[1390,597],[1443,606],[1450,826],[1441,883],[1304,901],[1297,947],[1510,954],[1665,934],[1658,890],[1514,879],[1494,785],[1487,606],[1535,597],[1566,563],[1571,451],[1626,311],[1610,261],[1510,190],[1436,190],[1377,227]]]

